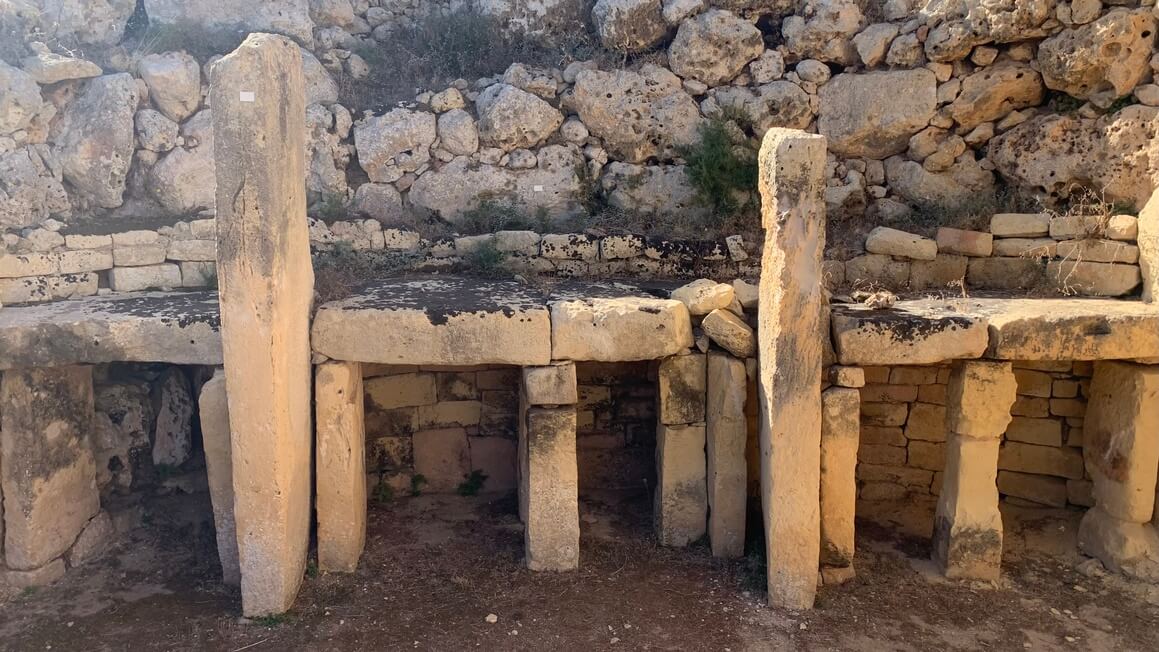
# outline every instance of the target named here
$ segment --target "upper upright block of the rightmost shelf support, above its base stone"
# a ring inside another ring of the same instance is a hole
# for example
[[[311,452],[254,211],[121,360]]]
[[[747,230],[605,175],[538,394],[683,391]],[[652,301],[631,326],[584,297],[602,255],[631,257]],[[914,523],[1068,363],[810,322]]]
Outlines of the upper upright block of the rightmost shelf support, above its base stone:
[[[1095,362],[1088,396],[1083,456],[1095,504],[1116,519],[1146,522],[1159,469],[1159,366]]]

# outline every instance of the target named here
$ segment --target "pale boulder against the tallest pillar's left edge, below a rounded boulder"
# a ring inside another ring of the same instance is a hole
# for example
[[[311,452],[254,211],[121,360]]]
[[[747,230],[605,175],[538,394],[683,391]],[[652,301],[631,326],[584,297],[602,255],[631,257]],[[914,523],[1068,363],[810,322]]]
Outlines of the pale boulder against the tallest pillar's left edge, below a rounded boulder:
[[[189,118],[181,125],[181,135],[185,144],[158,161],[146,181],[153,198],[174,215],[212,208],[217,192],[212,110]]]

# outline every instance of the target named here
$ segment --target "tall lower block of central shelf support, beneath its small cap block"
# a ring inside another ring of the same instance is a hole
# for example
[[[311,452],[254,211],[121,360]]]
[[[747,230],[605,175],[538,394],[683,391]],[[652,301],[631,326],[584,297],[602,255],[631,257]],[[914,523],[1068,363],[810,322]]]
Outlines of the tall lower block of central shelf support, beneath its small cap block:
[[[520,427],[519,500],[526,505],[525,563],[533,571],[580,565],[576,410],[531,408]]]

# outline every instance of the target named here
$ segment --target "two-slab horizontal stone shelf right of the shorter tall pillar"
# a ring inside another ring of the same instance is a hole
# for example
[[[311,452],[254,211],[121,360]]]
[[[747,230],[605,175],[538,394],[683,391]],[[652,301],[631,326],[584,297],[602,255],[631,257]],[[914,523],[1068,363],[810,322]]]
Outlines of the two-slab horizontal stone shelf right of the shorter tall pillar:
[[[834,303],[843,365],[945,360],[1159,358],[1159,306],[1113,299],[920,299],[892,308]]]

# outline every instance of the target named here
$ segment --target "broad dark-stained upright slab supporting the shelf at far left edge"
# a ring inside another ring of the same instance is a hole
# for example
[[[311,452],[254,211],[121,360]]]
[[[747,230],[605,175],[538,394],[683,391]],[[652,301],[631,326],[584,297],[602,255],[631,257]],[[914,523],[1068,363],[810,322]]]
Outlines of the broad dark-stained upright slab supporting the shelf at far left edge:
[[[0,493],[9,569],[31,571],[60,557],[100,511],[88,441],[92,418],[89,367],[9,369],[0,378]]]

